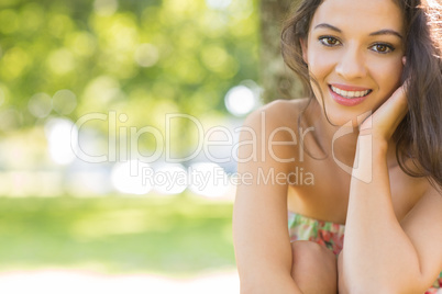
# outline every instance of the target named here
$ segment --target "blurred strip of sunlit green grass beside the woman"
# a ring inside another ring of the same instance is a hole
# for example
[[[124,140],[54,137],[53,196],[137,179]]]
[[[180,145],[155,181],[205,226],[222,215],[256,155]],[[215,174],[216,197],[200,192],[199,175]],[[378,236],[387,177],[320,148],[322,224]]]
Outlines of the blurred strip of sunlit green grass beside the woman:
[[[174,197],[0,197],[0,271],[191,275],[234,267],[232,204]]]

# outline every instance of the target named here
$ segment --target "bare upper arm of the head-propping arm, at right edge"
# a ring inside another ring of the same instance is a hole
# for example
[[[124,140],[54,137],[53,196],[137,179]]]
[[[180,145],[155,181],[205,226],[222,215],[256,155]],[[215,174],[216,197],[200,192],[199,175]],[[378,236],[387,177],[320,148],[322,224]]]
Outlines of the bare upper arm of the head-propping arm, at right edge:
[[[416,248],[422,284],[431,284],[442,271],[442,195],[430,186],[401,226]]]

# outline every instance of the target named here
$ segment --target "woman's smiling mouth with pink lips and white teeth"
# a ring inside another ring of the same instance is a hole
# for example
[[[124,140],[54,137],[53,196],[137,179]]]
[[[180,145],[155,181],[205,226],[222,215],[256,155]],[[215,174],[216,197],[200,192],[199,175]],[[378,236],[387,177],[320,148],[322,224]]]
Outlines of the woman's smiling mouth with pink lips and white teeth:
[[[372,89],[346,84],[330,84],[329,91],[333,100],[344,106],[357,105],[372,93]]]

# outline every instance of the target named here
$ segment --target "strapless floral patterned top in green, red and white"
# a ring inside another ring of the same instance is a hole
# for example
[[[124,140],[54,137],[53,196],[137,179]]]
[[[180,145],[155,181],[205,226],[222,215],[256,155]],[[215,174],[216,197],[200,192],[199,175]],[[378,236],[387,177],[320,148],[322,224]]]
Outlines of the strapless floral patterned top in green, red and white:
[[[290,241],[309,240],[325,246],[339,255],[344,245],[345,225],[318,220],[294,212],[288,212],[288,233]],[[442,272],[432,287],[424,294],[442,294]]]

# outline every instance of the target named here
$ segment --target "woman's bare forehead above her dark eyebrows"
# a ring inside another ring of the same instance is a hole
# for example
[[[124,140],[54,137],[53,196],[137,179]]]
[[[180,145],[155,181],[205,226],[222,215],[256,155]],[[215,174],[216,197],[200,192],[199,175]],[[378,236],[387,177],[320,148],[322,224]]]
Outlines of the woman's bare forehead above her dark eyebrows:
[[[404,16],[393,0],[324,0],[314,12],[311,26],[328,23],[343,31],[404,31]]]

